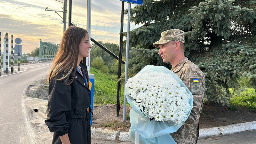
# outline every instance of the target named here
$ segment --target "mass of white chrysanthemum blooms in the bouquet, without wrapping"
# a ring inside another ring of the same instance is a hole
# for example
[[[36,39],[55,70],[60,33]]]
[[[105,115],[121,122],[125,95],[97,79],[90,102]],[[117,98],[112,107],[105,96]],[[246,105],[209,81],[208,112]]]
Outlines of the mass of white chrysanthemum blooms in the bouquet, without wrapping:
[[[182,124],[190,111],[190,95],[171,74],[147,71],[129,78],[127,94],[144,115],[156,121]]]

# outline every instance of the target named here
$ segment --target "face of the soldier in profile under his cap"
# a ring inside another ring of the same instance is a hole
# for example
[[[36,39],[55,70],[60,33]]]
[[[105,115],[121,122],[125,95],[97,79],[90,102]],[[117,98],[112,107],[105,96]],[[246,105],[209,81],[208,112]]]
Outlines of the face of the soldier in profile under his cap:
[[[173,44],[172,41],[166,44],[160,44],[158,54],[161,55],[164,62],[172,63],[172,61],[175,58],[174,49],[175,49],[175,44]]]

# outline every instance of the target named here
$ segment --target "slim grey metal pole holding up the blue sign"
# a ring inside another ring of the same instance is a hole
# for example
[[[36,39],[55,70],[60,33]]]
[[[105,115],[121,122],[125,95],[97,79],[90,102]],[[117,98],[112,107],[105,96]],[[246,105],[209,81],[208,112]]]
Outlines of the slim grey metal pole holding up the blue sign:
[[[129,36],[130,36],[129,31],[130,31],[131,3],[128,3],[128,13],[127,14],[128,14],[128,19],[127,19],[127,37],[126,37],[126,56],[125,56],[125,78],[124,78],[124,84],[126,84],[127,75],[128,75]],[[125,122],[125,120],[126,120],[126,96],[124,94],[124,115],[123,115],[123,121]]]

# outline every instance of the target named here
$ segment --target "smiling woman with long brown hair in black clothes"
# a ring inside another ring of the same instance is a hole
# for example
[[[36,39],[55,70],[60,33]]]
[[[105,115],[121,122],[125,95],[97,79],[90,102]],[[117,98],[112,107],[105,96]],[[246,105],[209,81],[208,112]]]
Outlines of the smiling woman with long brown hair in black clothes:
[[[68,27],[49,72],[48,114],[45,120],[53,144],[91,143],[91,92],[87,66],[82,62],[92,48],[88,32]]]

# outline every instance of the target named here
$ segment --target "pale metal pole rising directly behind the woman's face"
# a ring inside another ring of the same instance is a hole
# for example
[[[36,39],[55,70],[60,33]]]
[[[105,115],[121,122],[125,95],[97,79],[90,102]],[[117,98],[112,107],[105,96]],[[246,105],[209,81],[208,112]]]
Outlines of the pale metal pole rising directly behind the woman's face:
[[[91,11],[92,11],[92,0],[87,0],[87,23],[86,23],[86,30],[88,31],[89,34],[89,43],[91,43]],[[86,65],[87,65],[87,70],[88,74],[90,74],[90,53],[89,56],[86,57]]]

